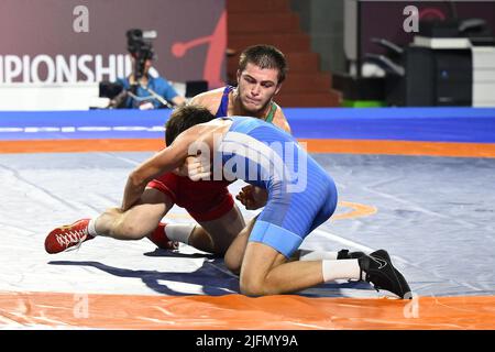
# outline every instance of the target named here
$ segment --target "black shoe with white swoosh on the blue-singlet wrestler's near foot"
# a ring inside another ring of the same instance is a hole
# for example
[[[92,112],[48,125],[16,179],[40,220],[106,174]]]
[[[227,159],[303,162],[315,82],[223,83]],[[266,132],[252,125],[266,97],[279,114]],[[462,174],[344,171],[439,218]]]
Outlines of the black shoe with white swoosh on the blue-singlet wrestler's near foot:
[[[409,285],[403,274],[392,265],[391,256],[385,250],[363,255],[359,263],[366,275],[364,279],[372,283],[376,290],[386,289],[400,298],[411,298]]]

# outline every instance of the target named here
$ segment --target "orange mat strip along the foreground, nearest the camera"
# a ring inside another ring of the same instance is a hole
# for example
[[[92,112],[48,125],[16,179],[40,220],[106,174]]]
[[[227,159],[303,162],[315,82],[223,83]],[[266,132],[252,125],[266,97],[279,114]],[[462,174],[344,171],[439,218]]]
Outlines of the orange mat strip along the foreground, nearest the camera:
[[[495,329],[495,297],[306,298],[1,293],[0,328]]]

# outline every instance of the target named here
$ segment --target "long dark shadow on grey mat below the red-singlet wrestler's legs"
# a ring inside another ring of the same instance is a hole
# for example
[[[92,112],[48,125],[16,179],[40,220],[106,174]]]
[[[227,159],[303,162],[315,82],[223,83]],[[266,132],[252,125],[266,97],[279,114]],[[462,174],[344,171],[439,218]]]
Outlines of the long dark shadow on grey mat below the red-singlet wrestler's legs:
[[[164,251],[165,252],[165,251]],[[172,254],[170,254],[172,255]],[[190,256],[190,255],[185,255]],[[200,255],[204,256],[204,255]],[[215,263],[213,263],[215,262]],[[219,263],[221,262],[221,263]],[[153,289],[154,292],[167,295],[167,296],[222,296],[222,295],[231,295],[239,293],[239,279],[227,273],[221,268],[220,265],[223,261],[205,261],[201,267],[199,267],[195,272],[188,273],[167,273],[167,272],[158,272],[158,271],[134,271],[129,268],[120,268],[114,266],[109,266],[99,262],[75,262],[75,261],[51,261],[48,264],[51,265],[75,265],[75,266],[91,266],[96,267],[102,272],[106,272],[113,276],[119,277],[130,277],[130,278],[140,278],[147,287]],[[162,282],[161,282],[162,280]],[[163,280],[191,284],[191,285],[201,285],[202,293],[200,294],[191,294],[191,293],[182,293],[169,288]]]

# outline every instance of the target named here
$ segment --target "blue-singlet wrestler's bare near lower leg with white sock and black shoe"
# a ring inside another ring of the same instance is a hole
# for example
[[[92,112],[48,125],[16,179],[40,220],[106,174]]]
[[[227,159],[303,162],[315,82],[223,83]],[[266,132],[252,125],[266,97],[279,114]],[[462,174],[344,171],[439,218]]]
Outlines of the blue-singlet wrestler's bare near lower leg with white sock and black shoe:
[[[257,230],[254,228],[253,231]],[[265,235],[270,237],[271,232]],[[248,243],[244,253],[240,288],[242,294],[249,296],[279,295],[339,278],[365,279],[377,289],[389,290],[400,298],[410,298],[409,285],[392,265],[384,250],[363,254],[359,258],[289,262],[286,255],[272,245],[255,241]]]

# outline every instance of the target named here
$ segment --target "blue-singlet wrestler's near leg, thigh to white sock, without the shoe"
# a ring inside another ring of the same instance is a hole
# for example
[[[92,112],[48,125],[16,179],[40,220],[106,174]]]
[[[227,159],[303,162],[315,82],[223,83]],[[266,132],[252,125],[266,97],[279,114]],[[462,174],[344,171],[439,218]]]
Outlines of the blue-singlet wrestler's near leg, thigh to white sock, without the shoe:
[[[328,206],[329,197],[321,197],[320,205],[315,202],[317,198],[312,195],[322,195],[328,188],[324,184],[321,185],[321,189],[309,189],[308,195],[292,195],[290,201],[306,209],[305,213],[298,212],[296,207],[286,208],[284,221],[280,221],[277,219],[279,208],[271,202],[262,211],[243,256],[241,293],[254,296],[287,294],[336,278],[361,277],[358,260],[290,261],[310,230],[333,212],[334,202]],[[318,184],[314,185],[317,186]]]

